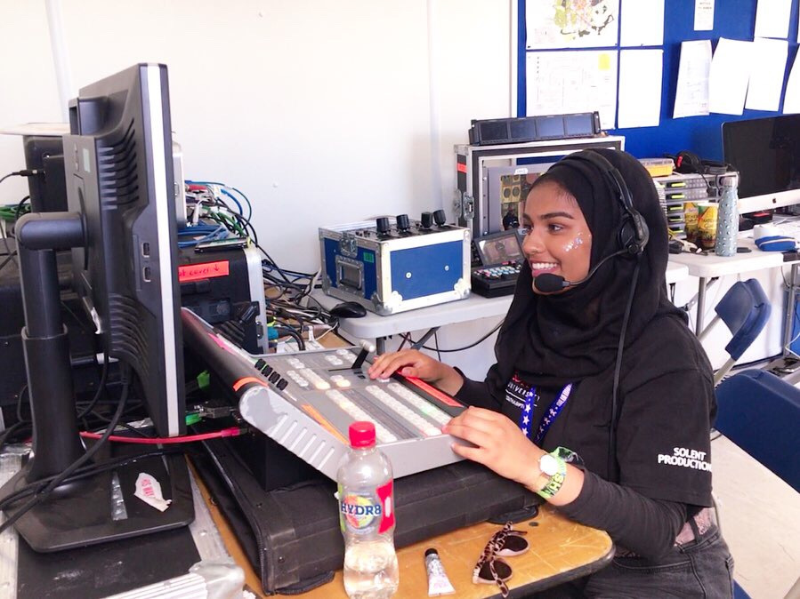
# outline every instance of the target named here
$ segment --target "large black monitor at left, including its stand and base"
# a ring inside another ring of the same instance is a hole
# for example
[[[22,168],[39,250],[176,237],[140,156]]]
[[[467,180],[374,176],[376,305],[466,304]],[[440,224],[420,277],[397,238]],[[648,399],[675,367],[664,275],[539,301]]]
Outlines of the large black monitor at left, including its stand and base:
[[[60,475],[85,451],[61,323],[56,250],[72,249],[76,289],[107,359],[133,371],[131,395],[144,400],[158,435],[185,431],[166,66],[135,65],[89,85],[69,113],[63,148],[71,212],[32,213],[17,227],[33,451],[0,489],[0,500]],[[128,447],[119,451],[132,454]],[[20,517],[15,526],[31,547],[80,547],[191,522],[181,455],[122,460],[101,472],[112,457],[101,462],[95,456],[97,474],[62,485]],[[155,477],[165,499],[172,499],[165,511],[134,497],[141,472]],[[16,517],[24,503],[5,506],[6,515]]]

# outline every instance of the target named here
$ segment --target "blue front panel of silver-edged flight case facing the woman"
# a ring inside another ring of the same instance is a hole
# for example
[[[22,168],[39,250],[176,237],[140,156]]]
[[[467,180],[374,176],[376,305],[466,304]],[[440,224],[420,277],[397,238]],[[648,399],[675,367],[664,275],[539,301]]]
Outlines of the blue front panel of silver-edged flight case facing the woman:
[[[392,292],[403,299],[452,292],[464,277],[464,242],[424,245],[392,252]],[[445,270],[445,266],[449,269]],[[410,278],[406,273],[411,273]]]

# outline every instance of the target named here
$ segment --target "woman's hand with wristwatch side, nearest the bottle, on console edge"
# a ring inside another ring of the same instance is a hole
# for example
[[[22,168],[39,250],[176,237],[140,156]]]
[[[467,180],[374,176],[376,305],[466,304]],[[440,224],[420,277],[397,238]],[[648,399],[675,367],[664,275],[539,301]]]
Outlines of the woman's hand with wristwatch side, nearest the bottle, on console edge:
[[[513,481],[530,485],[538,477],[538,460],[545,453],[515,425],[497,411],[469,407],[450,420],[442,432],[477,445],[455,443],[458,455],[479,462]]]

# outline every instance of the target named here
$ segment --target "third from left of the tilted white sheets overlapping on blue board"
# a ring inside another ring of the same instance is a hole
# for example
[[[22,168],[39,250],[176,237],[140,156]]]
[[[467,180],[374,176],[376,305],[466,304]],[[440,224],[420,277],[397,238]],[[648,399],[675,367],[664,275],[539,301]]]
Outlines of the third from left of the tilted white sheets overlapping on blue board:
[[[785,39],[756,37],[753,41],[753,69],[747,85],[745,108],[772,112],[780,108],[787,58],[788,42]]]

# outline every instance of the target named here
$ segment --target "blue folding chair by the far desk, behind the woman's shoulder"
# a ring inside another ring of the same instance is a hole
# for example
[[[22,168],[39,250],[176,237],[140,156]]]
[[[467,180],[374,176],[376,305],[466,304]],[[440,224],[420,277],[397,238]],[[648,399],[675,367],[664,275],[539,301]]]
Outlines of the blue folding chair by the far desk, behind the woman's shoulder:
[[[702,341],[720,320],[733,333],[731,341],[725,346],[725,351],[731,357],[722,368],[715,372],[714,384],[716,386],[764,329],[764,325],[770,318],[772,307],[761,284],[756,279],[748,279],[733,284],[714,310],[716,312],[714,319],[699,334],[698,339]]]

